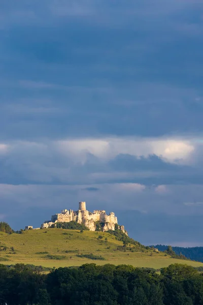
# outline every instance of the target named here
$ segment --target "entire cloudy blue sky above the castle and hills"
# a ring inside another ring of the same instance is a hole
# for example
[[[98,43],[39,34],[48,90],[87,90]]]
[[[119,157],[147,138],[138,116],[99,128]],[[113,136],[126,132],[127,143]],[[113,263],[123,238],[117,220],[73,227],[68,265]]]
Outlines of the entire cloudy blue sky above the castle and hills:
[[[2,0],[0,221],[86,201],[203,246],[202,71],[200,0]]]

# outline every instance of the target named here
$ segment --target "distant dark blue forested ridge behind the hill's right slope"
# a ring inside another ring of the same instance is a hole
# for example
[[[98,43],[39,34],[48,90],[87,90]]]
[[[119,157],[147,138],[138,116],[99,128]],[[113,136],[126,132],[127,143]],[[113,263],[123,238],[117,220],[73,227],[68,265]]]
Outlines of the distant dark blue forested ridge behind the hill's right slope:
[[[156,246],[150,246],[157,248],[159,251],[166,251],[168,246],[165,245],[156,245]],[[191,248],[183,248],[183,247],[173,247],[173,251],[177,255],[184,255],[185,257],[203,262],[203,247],[191,247]]]

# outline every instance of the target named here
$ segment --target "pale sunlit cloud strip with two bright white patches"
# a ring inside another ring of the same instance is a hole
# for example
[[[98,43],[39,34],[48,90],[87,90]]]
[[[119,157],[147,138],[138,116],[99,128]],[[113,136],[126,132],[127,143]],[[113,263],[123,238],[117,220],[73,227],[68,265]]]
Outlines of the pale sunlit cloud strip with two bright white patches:
[[[63,154],[72,154],[74,157],[84,158],[89,152],[101,159],[111,159],[119,154],[132,156],[157,155],[168,162],[182,163],[190,161],[195,147],[185,139],[164,138],[104,138],[104,139],[67,139],[57,141],[56,145]]]

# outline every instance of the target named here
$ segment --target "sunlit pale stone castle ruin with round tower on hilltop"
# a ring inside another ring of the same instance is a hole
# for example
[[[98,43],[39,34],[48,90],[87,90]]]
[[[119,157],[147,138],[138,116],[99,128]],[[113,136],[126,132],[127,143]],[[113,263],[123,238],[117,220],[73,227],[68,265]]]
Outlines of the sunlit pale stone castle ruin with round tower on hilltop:
[[[77,211],[73,210],[61,210],[59,214],[55,214],[51,217],[51,220],[45,221],[41,228],[49,228],[57,222],[70,222],[76,221],[79,224],[84,224],[90,231],[96,230],[96,223],[99,222],[101,225],[101,230],[103,232],[109,230],[115,230],[115,225],[118,225],[117,217],[114,212],[110,212],[109,215],[106,214],[105,210],[94,210],[89,212],[86,210],[86,203],[84,201],[79,202],[79,209]],[[122,232],[127,234],[124,226],[118,226]]]

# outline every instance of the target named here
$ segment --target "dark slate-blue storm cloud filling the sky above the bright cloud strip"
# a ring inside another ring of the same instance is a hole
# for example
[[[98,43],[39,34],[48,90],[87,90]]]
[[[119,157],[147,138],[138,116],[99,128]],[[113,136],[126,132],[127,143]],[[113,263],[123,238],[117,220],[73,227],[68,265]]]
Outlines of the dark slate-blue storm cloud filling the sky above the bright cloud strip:
[[[189,1],[7,4],[0,137],[201,131],[201,12]]]

